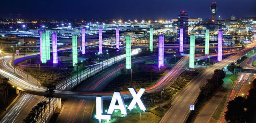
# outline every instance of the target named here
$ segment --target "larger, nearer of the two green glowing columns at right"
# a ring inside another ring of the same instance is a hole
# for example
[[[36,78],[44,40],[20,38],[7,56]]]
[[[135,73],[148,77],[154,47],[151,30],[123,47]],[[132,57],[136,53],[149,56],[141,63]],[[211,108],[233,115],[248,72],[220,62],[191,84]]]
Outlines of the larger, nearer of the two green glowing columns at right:
[[[190,44],[189,44],[189,68],[194,69],[195,65],[195,35],[190,35]]]

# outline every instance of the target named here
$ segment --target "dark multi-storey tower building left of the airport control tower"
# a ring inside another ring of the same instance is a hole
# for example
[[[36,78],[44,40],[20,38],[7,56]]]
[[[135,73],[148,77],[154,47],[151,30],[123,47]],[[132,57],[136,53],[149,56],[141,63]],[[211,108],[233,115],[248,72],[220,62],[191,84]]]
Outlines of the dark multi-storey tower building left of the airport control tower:
[[[178,34],[177,41],[180,39],[180,28],[183,28],[183,42],[184,44],[188,43],[188,15],[186,11],[181,11],[178,16]]]

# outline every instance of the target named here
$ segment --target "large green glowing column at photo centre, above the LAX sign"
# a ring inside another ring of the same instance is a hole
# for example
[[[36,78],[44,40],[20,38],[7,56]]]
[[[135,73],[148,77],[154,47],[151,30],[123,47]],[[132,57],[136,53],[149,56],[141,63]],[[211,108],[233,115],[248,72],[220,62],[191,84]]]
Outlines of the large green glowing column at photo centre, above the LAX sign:
[[[126,69],[131,69],[131,36],[126,36]]]

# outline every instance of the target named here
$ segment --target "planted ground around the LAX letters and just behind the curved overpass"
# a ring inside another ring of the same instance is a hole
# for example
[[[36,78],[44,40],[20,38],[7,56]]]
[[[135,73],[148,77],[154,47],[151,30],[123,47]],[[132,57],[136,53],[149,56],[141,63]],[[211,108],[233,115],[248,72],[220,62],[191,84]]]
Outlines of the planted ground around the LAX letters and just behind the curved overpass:
[[[154,65],[136,64],[133,66],[133,87],[136,89],[145,87],[151,87],[154,85],[166,72],[160,72]],[[143,71],[143,72],[142,72]],[[171,99],[175,94],[177,94],[181,89],[183,89],[196,75],[196,71],[182,72],[170,87],[162,89],[162,115],[160,113],[160,98],[161,90],[154,93],[144,93],[141,97],[142,102],[146,106],[147,110],[145,113],[141,113],[141,122],[144,123],[157,123],[161,120],[161,116],[164,115],[165,111],[171,106]],[[143,76],[142,76],[143,75]],[[152,76],[152,77],[151,77]],[[185,77],[186,76],[186,77]],[[103,91],[127,91],[127,87],[131,87],[131,74],[123,73],[117,78],[112,80]],[[110,90],[111,89],[111,90]],[[131,103],[132,99],[125,99],[124,103],[126,108]],[[110,105],[110,100],[103,100],[103,114],[108,111]],[[116,105],[118,105],[116,103]],[[130,123],[130,122],[140,122],[140,110],[139,106],[136,104],[134,109],[129,111],[127,109],[128,115],[122,115],[120,110],[114,110],[111,114],[110,122],[113,123]],[[96,107],[94,106],[94,111],[92,114],[91,122],[96,123],[98,120],[95,117]],[[106,120],[102,120],[104,122]]]

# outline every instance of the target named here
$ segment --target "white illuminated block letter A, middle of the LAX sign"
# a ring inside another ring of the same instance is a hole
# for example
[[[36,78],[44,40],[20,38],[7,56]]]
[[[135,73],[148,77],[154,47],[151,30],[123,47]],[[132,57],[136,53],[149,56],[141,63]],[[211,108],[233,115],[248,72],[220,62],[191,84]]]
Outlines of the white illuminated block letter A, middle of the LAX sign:
[[[118,102],[119,105],[115,105],[116,102]],[[125,103],[123,102],[123,98],[120,91],[114,92],[111,103],[109,105],[108,114],[112,114],[114,109],[120,109],[122,115],[127,115]]]

